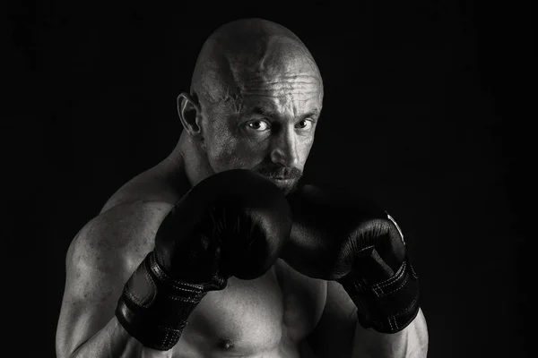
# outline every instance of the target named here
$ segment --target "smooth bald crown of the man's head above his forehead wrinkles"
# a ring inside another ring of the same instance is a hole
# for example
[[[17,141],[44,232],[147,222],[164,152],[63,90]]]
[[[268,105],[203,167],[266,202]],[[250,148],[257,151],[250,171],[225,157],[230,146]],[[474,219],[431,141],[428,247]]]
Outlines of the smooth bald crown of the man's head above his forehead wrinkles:
[[[262,19],[229,22],[207,38],[195,64],[191,92],[201,104],[233,101],[256,92],[257,84],[283,77],[322,80],[302,41],[282,25]],[[323,96],[323,90],[320,91]]]

